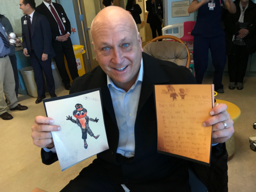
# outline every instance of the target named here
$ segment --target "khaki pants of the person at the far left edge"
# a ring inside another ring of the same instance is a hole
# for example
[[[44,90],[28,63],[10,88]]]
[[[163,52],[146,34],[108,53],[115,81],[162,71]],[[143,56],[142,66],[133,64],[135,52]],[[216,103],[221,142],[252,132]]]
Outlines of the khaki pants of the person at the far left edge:
[[[18,105],[15,94],[15,81],[9,56],[0,58],[0,115],[7,112],[7,104],[4,94],[8,101],[8,107],[14,108]]]

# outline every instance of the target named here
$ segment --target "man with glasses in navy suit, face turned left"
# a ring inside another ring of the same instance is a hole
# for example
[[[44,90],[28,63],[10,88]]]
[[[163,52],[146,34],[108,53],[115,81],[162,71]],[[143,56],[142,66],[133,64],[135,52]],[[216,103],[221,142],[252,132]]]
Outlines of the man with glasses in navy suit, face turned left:
[[[50,96],[57,96],[51,67],[51,58],[55,56],[51,45],[51,29],[45,16],[35,11],[35,6],[34,0],[20,0],[20,9],[26,14],[21,18],[23,54],[26,57],[30,56],[35,74],[38,94],[36,104],[38,104],[46,97],[43,71]]]

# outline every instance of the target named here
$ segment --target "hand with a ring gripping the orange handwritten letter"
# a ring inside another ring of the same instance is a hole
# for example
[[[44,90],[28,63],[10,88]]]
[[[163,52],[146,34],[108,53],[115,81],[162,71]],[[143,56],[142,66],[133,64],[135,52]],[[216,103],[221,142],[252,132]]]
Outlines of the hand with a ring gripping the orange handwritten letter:
[[[226,104],[219,104],[210,111],[212,117],[203,122],[204,127],[212,126],[212,143],[224,143],[234,133],[233,120],[230,118],[229,113],[226,111]],[[224,123],[227,124],[225,128]]]

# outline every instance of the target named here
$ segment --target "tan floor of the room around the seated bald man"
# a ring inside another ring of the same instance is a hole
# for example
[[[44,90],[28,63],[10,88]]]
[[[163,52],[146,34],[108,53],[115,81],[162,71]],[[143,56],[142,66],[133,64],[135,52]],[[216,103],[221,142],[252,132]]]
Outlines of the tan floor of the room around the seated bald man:
[[[211,83],[211,78],[206,77],[204,83]],[[256,121],[256,77],[246,77],[245,88],[240,91],[229,90],[228,83],[228,77],[224,77],[225,93],[218,94],[216,98],[230,101],[241,109],[241,116],[235,124],[235,155],[228,162],[229,191],[255,191],[256,152],[250,149],[248,137],[256,136],[256,130],[252,128]],[[68,91],[61,87],[56,90],[56,94],[66,95]],[[35,100],[27,95],[19,95],[19,102],[29,109],[8,111],[14,119],[0,119],[1,192],[31,192],[35,187],[49,192],[60,191],[95,158],[91,157],[63,172],[58,162],[49,166],[42,164],[40,149],[32,143],[31,126],[35,116],[45,115],[45,111],[43,103],[35,104]]]

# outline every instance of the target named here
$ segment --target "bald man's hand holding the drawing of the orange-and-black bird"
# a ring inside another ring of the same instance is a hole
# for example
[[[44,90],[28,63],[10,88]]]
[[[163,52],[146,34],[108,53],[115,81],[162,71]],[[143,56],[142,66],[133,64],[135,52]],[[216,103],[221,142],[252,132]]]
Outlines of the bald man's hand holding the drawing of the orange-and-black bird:
[[[52,140],[51,131],[59,131],[60,126],[58,125],[49,125],[53,123],[54,120],[49,117],[37,116],[35,118],[34,124],[31,128],[34,145],[40,148],[53,148],[54,143]]]

